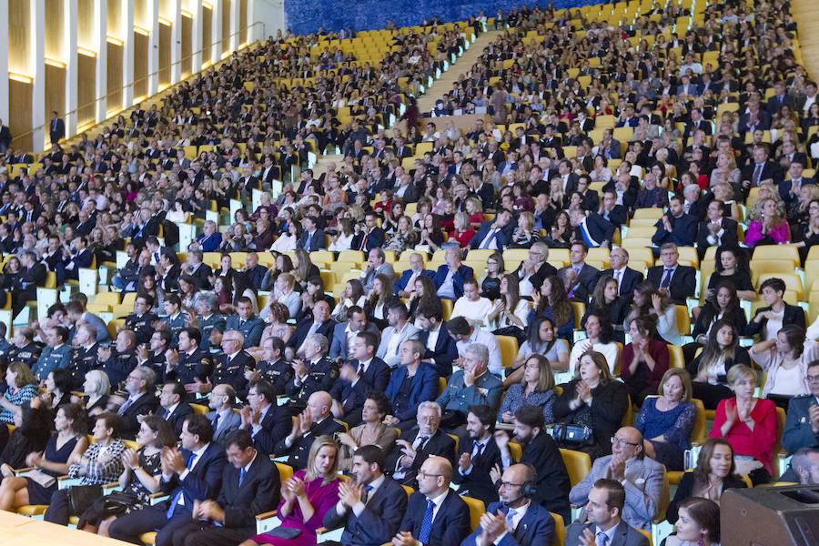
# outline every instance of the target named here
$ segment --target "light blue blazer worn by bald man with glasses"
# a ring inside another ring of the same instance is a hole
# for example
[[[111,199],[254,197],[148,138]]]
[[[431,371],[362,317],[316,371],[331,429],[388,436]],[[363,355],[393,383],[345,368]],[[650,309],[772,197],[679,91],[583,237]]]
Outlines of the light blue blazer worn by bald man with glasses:
[[[594,460],[589,472],[580,483],[571,488],[569,501],[577,506],[584,507],[589,501],[589,491],[594,482],[606,477],[606,469],[611,455]],[[656,460],[630,459],[625,464],[625,480],[622,485],[626,491],[625,506],[622,509],[622,519],[637,529],[651,531],[652,519],[657,517],[662,502],[662,480],[665,476],[665,467]],[[585,520],[585,510],[581,512],[580,521]]]

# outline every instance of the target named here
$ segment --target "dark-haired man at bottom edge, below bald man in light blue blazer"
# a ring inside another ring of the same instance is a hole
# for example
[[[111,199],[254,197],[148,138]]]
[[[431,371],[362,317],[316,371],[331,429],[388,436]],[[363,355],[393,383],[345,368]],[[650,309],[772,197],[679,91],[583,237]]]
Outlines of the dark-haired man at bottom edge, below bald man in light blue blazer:
[[[649,546],[648,538],[622,521],[625,490],[619,481],[594,482],[586,505],[588,523],[572,523],[566,529],[566,544],[606,544],[606,546]],[[605,539],[596,541],[601,533]]]

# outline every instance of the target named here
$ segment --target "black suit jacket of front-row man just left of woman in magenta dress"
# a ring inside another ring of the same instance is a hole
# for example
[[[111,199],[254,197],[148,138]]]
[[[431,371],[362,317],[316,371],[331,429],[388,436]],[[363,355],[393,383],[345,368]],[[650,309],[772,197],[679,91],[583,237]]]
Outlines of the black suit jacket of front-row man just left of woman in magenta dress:
[[[241,470],[232,464],[225,465],[217,502],[225,511],[225,527],[247,529],[253,534],[255,515],[276,510],[281,498],[281,483],[276,464],[261,453],[250,463],[239,485]]]

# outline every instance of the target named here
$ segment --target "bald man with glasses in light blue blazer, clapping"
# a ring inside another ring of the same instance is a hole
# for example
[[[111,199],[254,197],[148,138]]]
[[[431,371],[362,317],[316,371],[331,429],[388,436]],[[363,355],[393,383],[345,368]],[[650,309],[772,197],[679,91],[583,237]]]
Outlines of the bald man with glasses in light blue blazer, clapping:
[[[636,529],[651,531],[652,520],[662,504],[665,467],[645,457],[642,434],[633,427],[622,427],[612,438],[612,454],[594,460],[591,472],[571,488],[571,504],[585,507],[594,482],[602,478],[620,481],[626,492],[622,519]],[[586,521],[585,511],[580,521]]]

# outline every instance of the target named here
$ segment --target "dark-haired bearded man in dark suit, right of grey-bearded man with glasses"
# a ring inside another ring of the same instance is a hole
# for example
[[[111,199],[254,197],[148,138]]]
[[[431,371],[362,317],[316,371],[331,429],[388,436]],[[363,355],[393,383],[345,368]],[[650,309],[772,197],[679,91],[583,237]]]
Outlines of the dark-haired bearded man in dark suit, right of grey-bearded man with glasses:
[[[498,488],[490,478],[490,470],[496,465],[503,466],[501,451],[492,438],[497,412],[489,406],[470,406],[469,410],[467,437],[460,440],[452,481],[460,484],[460,495],[480,499],[489,505],[498,501]]]

